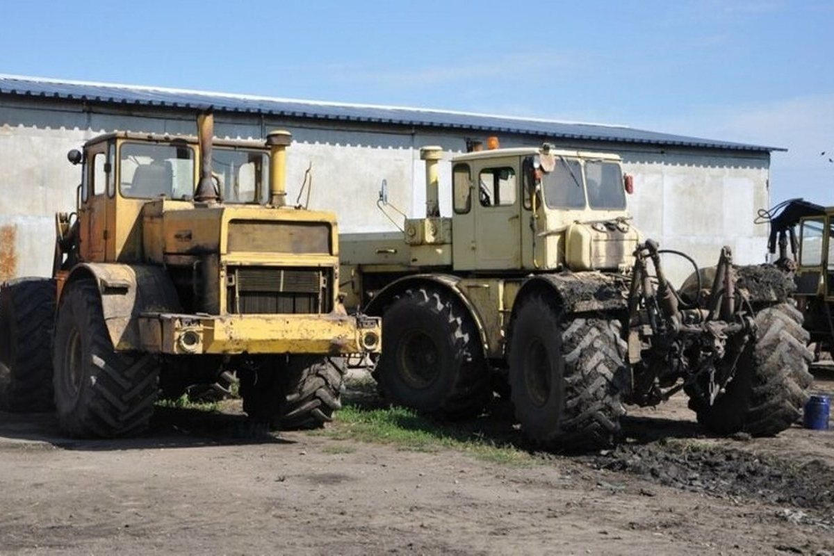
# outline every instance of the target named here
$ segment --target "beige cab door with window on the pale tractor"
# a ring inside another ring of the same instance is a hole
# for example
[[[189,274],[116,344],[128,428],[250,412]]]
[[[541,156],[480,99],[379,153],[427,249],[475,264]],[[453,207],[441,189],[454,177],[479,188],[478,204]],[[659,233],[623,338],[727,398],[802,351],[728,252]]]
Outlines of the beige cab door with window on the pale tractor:
[[[491,158],[473,168],[475,268],[521,268],[521,196],[518,158]]]

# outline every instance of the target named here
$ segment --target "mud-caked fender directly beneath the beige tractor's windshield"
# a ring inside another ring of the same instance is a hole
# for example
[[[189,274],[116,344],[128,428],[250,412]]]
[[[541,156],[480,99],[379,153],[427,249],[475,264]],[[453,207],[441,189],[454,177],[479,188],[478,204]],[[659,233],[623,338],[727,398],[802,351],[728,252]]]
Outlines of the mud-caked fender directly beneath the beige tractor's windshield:
[[[521,285],[516,300],[540,288],[549,288],[555,293],[560,306],[569,313],[628,308],[629,281],[620,275],[598,272],[536,274]],[[514,315],[518,306],[519,303],[513,303]]]

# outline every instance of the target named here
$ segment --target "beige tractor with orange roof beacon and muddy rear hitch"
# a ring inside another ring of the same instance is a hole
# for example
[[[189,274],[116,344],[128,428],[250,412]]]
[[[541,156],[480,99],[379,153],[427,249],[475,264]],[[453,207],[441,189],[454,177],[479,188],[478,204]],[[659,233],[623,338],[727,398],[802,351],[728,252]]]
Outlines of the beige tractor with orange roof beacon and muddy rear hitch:
[[[667,252],[626,212],[619,156],[548,144],[460,154],[441,217],[443,153],[420,153],[425,218],[341,238],[346,305],[383,318],[374,376],[391,402],[455,418],[509,392],[545,448],[610,443],[624,403],[681,389],[717,433],[774,434],[798,417],[811,377],[790,284],[776,268],[735,267],[724,248],[713,280],[693,272],[676,291]]]

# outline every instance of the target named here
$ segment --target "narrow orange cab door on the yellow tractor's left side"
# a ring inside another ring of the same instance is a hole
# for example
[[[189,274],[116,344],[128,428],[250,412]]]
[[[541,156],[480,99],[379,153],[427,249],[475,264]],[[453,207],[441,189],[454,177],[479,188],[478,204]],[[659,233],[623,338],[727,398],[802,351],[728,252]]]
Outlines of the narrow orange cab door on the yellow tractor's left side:
[[[83,261],[100,263],[105,260],[108,240],[112,241],[108,237],[108,178],[113,164],[108,162],[107,143],[90,146],[85,157],[78,208],[79,251]]]

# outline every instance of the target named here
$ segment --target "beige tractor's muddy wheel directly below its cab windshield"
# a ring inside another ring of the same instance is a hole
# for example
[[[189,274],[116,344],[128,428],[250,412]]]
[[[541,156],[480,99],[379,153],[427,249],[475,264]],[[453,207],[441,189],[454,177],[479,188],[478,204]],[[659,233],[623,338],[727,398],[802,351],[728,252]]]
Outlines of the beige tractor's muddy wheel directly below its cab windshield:
[[[525,435],[547,449],[610,445],[628,384],[620,321],[569,315],[539,294],[522,303],[510,338],[510,397]]]

